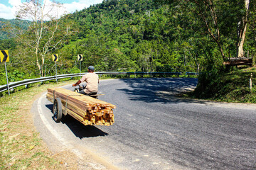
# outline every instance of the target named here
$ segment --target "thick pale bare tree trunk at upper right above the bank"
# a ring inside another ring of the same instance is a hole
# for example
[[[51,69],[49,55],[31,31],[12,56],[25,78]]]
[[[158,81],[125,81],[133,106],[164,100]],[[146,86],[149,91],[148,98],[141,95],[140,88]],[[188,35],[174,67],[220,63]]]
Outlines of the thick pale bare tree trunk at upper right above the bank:
[[[247,16],[249,10],[250,0],[245,0],[245,16],[242,17],[241,21],[238,23],[238,41],[237,41],[237,57],[244,57],[245,52],[243,50],[243,45],[245,43],[245,34],[247,28]]]

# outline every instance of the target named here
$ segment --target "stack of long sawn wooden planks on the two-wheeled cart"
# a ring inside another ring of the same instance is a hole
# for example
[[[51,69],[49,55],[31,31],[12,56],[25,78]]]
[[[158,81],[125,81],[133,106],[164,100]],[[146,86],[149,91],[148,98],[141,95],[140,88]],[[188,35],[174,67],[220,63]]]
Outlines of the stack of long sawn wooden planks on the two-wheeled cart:
[[[47,89],[46,97],[53,102],[54,98],[60,98],[63,114],[69,114],[84,125],[112,125],[114,114],[112,109],[116,106],[101,101],[97,98],[75,93],[68,89]]]

